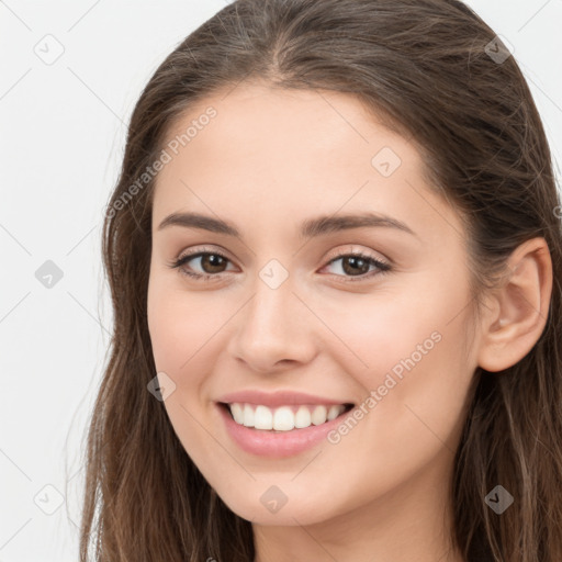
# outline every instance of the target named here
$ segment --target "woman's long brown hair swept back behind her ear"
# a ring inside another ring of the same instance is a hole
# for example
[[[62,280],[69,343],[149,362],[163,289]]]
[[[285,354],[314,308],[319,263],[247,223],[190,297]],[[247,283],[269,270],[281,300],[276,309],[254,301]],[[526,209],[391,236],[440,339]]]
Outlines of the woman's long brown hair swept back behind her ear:
[[[517,364],[474,373],[450,490],[467,560],[562,560],[562,207],[531,93],[495,37],[457,0],[237,0],[156,70],[104,216],[114,328],[88,432],[82,562],[254,560],[250,522],[216,496],[147,392],[154,177],[143,175],[196,100],[256,78],[348,92],[411,137],[467,222],[476,295],[519,244],[546,238],[546,328]],[[497,484],[515,498],[502,515],[484,499]]]

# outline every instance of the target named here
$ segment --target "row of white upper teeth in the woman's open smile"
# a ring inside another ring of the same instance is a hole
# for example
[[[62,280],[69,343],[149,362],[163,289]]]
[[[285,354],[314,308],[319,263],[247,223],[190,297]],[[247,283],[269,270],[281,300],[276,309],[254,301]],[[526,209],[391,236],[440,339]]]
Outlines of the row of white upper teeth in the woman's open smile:
[[[342,404],[324,406],[280,406],[276,409],[252,404],[228,404],[234,420],[256,429],[290,431],[311,425],[319,426],[338,417],[346,407]]]

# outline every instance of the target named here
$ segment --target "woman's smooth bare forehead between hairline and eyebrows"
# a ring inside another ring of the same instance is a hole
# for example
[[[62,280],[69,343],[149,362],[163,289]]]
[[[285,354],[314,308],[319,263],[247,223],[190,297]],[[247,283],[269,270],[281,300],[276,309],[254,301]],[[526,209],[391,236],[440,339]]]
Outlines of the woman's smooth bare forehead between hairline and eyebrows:
[[[435,223],[436,205],[443,205],[424,184],[415,146],[339,92],[238,86],[190,106],[167,146],[155,222],[196,210],[282,226],[292,217],[370,210]]]

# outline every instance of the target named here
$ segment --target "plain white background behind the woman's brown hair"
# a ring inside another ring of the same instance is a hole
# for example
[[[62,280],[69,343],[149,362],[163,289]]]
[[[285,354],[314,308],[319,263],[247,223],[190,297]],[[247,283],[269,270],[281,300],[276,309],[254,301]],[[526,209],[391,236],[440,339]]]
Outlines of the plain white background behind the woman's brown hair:
[[[468,4],[515,47],[560,166],[562,1]],[[0,562],[78,559],[81,446],[112,323],[104,204],[142,88],[224,5],[0,0]],[[64,48],[52,65],[34,52],[56,53],[47,34]],[[46,260],[63,271],[50,289],[35,277]]]

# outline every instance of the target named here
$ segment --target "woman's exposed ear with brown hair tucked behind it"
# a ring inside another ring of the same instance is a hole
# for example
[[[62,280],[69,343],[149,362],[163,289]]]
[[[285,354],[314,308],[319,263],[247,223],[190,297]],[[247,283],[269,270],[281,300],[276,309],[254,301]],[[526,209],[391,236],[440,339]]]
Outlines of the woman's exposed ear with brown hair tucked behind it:
[[[547,240],[532,238],[518,246],[508,258],[507,272],[481,325],[479,366],[491,372],[521,360],[544,329],[552,292]]]

